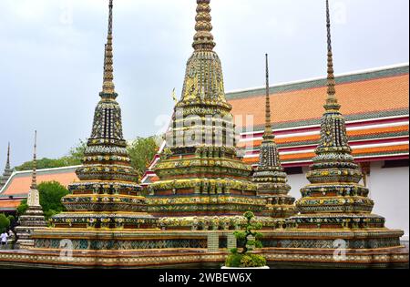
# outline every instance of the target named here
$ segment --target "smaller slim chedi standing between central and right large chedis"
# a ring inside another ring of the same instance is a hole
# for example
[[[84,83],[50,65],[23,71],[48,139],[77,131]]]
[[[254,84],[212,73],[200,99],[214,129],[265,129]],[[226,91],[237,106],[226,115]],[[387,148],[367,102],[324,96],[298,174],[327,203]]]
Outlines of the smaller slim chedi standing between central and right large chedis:
[[[295,206],[294,198],[288,195],[291,186],[287,183],[287,175],[282,168],[278,146],[272,132],[268,55],[266,55],[265,108],[265,132],[261,142],[259,165],[253,173],[253,182],[257,185],[258,195],[268,200],[266,208],[263,210],[263,215],[284,220],[294,215]],[[284,221],[282,222],[284,223]]]

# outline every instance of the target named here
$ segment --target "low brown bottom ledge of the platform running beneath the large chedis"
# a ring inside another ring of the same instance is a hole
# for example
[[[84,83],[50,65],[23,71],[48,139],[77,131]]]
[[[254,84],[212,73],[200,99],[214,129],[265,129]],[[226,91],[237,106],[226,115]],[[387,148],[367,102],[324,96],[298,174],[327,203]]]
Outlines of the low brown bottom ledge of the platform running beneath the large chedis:
[[[408,268],[408,250],[403,247],[347,251],[346,260],[334,260],[333,251],[312,249],[262,249],[272,269],[285,268]],[[69,255],[69,256],[68,256]],[[212,268],[223,265],[228,251],[209,252],[206,249],[172,249],[150,251],[73,251],[20,250],[0,251],[0,267],[29,268]]]

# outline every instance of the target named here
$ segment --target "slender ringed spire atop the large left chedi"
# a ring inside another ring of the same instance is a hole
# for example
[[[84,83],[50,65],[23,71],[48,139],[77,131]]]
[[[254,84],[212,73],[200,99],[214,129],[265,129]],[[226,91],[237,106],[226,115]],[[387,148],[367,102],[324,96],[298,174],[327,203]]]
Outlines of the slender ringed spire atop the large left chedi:
[[[112,48],[112,8],[113,0],[109,0],[109,16],[108,16],[108,36],[104,54],[104,82],[101,95],[112,98],[117,97],[114,85],[114,68],[113,68],[113,48]]]

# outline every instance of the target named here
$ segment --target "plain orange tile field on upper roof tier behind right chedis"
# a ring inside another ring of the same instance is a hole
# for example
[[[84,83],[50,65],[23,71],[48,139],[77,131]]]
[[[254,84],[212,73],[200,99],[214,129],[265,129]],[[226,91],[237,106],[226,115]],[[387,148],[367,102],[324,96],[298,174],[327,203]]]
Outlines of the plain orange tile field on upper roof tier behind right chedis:
[[[376,78],[340,84],[337,97],[345,116],[384,110],[408,109],[409,75]],[[294,122],[321,118],[326,87],[299,89],[271,95],[272,122]],[[264,96],[231,99],[235,116],[253,115],[253,125],[264,124]]]

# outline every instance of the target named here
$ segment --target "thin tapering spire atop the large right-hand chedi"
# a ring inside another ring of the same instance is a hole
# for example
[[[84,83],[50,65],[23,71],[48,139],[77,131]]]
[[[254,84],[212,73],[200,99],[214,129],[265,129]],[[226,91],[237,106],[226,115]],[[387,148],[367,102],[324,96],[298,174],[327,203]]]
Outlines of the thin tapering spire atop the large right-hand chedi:
[[[327,24],[327,98],[324,108],[326,110],[339,110],[340,105],[336,97],[336,82],[333,70],[332,34],[329,0],[326,0],[326,24]]]

